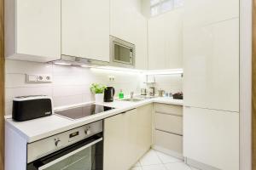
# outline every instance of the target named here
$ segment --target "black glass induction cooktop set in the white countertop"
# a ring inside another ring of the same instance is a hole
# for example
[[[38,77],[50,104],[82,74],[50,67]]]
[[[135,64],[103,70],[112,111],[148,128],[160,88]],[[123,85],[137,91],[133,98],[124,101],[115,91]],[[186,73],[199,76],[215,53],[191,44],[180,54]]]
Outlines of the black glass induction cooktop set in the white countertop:
[[[60,116],[66,116],[71,119],[80,119],[86,116],[95,115],[97,113],[102,113],[104,111],[113,110],[113,107],[103,106],[103,105],[81,105],[78,107],[70,108],[64,111],[55,111],[55,114]]]

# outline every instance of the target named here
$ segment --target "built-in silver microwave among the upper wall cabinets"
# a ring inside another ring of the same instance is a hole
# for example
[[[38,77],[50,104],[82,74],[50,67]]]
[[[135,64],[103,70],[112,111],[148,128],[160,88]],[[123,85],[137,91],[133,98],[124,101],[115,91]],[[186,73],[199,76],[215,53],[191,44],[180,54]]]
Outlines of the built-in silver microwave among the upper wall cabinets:
[[[110,65],[134,68],[135,45],[110,36]]]

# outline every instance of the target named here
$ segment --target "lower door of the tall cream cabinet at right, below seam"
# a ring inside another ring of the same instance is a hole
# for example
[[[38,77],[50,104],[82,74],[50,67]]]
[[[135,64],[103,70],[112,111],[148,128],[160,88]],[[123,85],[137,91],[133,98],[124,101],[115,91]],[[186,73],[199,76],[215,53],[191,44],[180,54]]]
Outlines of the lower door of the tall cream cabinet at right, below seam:
[[[222,170],[239,169],[239,113],[184,107],[183,154]]]

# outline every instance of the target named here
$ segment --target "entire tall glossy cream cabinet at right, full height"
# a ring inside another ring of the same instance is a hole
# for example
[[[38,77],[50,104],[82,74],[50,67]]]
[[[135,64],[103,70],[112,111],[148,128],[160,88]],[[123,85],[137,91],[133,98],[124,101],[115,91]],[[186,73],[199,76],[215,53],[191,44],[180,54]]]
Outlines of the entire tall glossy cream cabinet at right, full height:
[[[239,0],[187,0],[183,36],[183,155],[238,170]]]

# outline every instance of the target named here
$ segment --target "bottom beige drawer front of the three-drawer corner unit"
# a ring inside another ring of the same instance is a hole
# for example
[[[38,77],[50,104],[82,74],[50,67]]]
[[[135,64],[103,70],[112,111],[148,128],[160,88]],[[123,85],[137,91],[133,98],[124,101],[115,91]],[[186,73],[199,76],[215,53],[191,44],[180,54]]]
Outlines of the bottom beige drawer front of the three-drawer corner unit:
[[[155,130],[154,144],[183,154],[183,137],[180,135]]]

